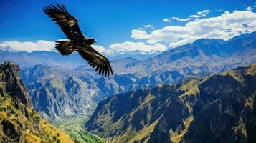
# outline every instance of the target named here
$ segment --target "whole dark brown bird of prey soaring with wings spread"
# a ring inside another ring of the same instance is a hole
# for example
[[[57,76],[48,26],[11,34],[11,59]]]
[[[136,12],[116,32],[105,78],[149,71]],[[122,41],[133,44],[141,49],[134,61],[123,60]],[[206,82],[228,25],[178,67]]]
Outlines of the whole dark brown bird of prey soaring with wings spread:
[[[57,51],[60,51],[64,56],[77,51],[82,58],[88,61],[90,66],[96,68],[96,72],[99,71],[99,74],[105,74],[105,76],[107,76],[107,74],[109,76],[111,72],[113,75],[113,70],[108,59],[91,46],[96,40],[89,39],[82,34],[77,19],[67,11],[63,4],[57,4],[57,6],[49,4],[49,6],[44,7],[43,11],[53,21],[56,21],[56,24],[60,26],[67,36],[68,40],[56,41],[57,44],[55,48]]]

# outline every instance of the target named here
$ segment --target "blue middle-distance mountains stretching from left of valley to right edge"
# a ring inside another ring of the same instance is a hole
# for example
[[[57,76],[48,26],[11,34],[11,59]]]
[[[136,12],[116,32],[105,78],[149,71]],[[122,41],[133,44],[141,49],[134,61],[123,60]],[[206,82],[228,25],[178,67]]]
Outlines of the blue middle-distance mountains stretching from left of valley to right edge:
[[[90,112],[96,103],[113,94],[254,63],[255,37],[256,32],[229,41],[199,39],[144,61],[118,59],[112,62],[114,77],[99,77],[90,66],[65,69],[37,65],[23,69],[22,79],[32,95],[34,108],[54,122],[72,113]]]

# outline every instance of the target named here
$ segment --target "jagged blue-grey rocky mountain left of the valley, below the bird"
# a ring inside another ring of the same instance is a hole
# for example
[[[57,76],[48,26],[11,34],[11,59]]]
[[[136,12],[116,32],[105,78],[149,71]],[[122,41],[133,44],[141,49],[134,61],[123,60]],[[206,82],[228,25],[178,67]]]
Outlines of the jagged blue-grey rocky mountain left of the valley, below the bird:
[[[54,122],[70,114],[89,114],[103,93],[93,80],[77,77],[70,69],[34,66],[22,71],[34,109]]]

